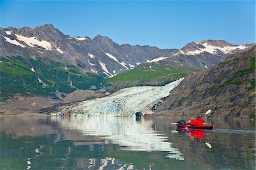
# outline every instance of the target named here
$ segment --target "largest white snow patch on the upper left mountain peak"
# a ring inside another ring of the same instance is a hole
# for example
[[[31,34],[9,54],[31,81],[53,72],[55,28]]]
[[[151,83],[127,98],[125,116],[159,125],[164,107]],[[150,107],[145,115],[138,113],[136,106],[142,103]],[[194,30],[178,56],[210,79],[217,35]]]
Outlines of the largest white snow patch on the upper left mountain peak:
[[[35,47],[35,45],[38,45],[38,46],[43,47],[48,50],[52,49],[51,43],[49,43],[45,40],[39,41],[35,36],[26,37],[26,36],[22,36],[22,35],[18,35],[18,34],[15,34],[15,35],[18,40],[26,43],[30,47]]]

